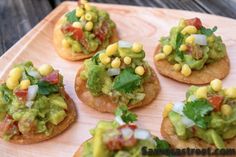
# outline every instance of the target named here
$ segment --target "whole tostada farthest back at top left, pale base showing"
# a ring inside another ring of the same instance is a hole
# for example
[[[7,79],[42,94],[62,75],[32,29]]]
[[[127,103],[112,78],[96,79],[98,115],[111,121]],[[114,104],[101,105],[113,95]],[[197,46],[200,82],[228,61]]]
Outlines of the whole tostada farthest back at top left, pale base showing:
[[[86,1],[63,15],[54,28],[54,46],[64,59],[76,61],[91,57],[118,40],[109,14]]]

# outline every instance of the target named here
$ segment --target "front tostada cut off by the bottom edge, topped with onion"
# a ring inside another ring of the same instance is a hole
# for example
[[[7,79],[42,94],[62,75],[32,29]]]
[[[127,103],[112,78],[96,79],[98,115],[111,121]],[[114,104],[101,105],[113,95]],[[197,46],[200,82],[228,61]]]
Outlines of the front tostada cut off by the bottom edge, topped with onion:
[[[90,131],[92,138],[80,146],[74,157],[149,157],[144,154],[148,149],[152,149],[152,152],[156,149],[169,149],[166,141],[132,123],[136,118],[126,106],[118,108],[115,120],[100,121]],[[156,157],[154,154],[150,156]]]

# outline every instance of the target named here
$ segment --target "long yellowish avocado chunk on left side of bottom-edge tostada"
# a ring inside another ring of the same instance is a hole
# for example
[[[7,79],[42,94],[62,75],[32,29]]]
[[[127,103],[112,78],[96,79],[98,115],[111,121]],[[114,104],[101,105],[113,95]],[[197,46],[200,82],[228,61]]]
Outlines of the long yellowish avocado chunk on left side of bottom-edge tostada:
[[[110,152],[106,149],[103,143],[103,133],[106,130],[112,129],[112,123],[106,121],[100,121],[96,127],[95,135],[93,138],[93,156],[109,157]]]

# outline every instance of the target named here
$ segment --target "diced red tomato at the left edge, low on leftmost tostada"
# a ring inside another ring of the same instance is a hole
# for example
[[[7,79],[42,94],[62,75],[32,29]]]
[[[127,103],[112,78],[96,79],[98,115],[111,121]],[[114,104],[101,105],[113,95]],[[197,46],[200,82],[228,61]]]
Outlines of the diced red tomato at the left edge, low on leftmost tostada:
[[[6,115],[5,119],[2,122],[0,122],[0,136],[3,136],[4,134],[14,135],[17,133],[18,133],[17,124],[14,123],[11,116]]]

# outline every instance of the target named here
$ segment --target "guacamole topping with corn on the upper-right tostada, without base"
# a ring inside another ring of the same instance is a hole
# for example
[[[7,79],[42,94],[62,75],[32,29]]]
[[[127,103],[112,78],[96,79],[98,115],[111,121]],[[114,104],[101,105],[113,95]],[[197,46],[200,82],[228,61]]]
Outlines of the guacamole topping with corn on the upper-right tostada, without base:
[[[226,56],[225,44],[214,33],[216,30],[216,26],[204,27],[199,18],[182,19],[168,37],[160,39],[160,53],[155,60],[167,60],[173,70],[190,76],[192,70],[201,70]]]

